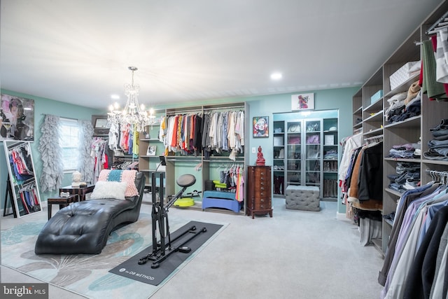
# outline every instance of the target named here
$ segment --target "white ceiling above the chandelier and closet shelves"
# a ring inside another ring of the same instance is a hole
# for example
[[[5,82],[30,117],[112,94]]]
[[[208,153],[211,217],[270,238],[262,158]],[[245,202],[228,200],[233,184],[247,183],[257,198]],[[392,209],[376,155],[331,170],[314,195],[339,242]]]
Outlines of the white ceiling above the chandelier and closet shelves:
[[[3,0],[0,83],[106,109],[358,86],[440,0]],[[279,81],[269,78],[274,71]]]

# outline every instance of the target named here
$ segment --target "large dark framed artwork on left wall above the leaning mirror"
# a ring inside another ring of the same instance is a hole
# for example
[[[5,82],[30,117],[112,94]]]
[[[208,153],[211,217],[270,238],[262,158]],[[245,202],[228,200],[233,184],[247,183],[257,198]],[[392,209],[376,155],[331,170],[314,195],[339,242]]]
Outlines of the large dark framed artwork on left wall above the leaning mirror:
[[[34,99],[1,95],[0,141],[34,141]]]

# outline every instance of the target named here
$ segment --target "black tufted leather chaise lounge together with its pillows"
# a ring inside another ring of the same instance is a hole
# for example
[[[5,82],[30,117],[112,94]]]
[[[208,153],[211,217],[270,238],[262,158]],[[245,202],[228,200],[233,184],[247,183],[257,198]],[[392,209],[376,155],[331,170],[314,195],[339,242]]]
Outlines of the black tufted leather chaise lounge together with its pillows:
[[[37,237],[36,254],[98,254],[109,234],[139,219],[145,176],[135,170],[104,169],[89,200],[57,211]]]

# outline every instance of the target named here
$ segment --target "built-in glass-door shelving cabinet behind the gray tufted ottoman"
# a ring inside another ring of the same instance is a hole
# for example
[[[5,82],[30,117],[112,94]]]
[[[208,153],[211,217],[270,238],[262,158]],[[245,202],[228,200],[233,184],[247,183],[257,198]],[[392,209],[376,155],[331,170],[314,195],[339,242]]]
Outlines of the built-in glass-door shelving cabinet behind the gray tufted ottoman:
[[[278,129],[281,132],[275,132]],[[284,197],[284,190],[290,185],[316,186],[320,190],[321,200],[336,201],[337,140],[337,117],[275,120],[272,167],[274,196]],[[336,153],[335,159],[324,158],[325,153],[332,150]]]

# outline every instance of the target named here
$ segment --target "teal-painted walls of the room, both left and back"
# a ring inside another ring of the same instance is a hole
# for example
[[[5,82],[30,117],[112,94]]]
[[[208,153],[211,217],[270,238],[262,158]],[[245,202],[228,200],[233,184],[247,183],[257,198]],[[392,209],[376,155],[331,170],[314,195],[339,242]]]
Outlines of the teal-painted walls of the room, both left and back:
[[[310,93],[314,92],[314,109],[315,110],[339,110],[339,139],[348,137],[352,134],[352,99],[353,95],[359,90],[356,88],[338,88],[332,90],[317,90],[317,91],[307,91],[300,93]],[[31,150],[34,158],[34,166],[36,168],[37,179],[41,175],[41,159],[37,151],[38,140],[41,136],[39,132],[39,127],[43,121],[44,114],[53,114],[57,116],[62,116],[66,118],[76,118],[76,119],[86,119],[90,120],[92,114],[105,114],[106,106],[104,111],[89,109],[82,106],[77,106],[73,104],[66,104],[63,102],[57,102],[52,99],[44,99],[41,97],[34,97],[32,95],[24,95],[18,92],[12,92],[9,90],[1,90],[1,93],[8,95],[16,95],[18,97],[25,97],[28,99],[34,99],[35,101],[35,140],[31,144]],[[247,102],[249,106],[248,121],[252,121],[254,116],[269,116],[269,137],[267,138],[253,138],[252,135],[248,138],[249,143],[246,145],[246,150],[251,153],[251,148],[258,146],[262,147],[262,153],[266,160],[266,165],[272,165],[272,130],[273,130],[273,113],[283,113],[291,111],[291,95],[297,94],[285,93],[279,95],[260,95],[255,97],[237,97],[237,98],[225,98],[225,99],[209,99],[202,101],[192,101],[187,103],[176,103],[167,105],[156,105],[155,109],[169,109],[169,108],[179,108],[188,106],[202,106],[207,104],[224,104],[232,102]],[[251,134],[251,132],[248,132]],[[3,152],[3,146],[0,149],[0,194],[3,196],[5,194],[6,188],[6,177],[8,176],[8,171],[6,169],[6,159]],[[256,154],[251,153],[248,161],[248,165],[255,165]],[[216,169],[215,169],[216,170]],[[216,171],[214,171],[216,172]],[[179,174],[183,173],[183,170],[179,169]],[[4,178],[4,179],[3,179]],[[198,180],[201,181],[201,180]],[[64,177],[64,185],[69,185],[71,183],[71,174],[66,174]],[[197,186],[200,188],[200,185]],[[46,200],[50,194],[41,194],[41,200]],[[1,200],[1,205],[3,205],[3,198]],[[345,206],[338,202],[338,211],[340,213],[345,212]]]

